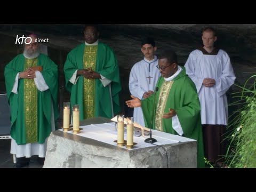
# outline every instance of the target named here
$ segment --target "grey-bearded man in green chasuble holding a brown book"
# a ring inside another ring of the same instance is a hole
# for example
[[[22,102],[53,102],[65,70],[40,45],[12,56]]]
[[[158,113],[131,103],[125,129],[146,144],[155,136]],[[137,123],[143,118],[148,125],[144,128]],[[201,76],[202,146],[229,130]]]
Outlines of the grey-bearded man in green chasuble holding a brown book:
[[[28,165],[33,155],[45,157],[46,139],[55,130],[58,118],[58,67],[39,53],[36,38],[29,35],[23,42],[23,54],[4,69],[11,109],[11,154],[17,157],[16,167]]]

